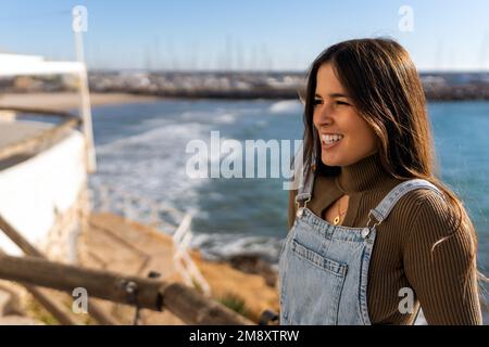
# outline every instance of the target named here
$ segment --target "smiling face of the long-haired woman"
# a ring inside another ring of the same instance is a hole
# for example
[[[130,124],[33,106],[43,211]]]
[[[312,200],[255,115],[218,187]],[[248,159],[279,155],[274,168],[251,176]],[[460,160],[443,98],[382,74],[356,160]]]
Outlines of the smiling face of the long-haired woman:
[[[356,112],[329,63],[317,72],[314,100],[313,123],[325,165],[351,165],[377,151],[374,131]]]

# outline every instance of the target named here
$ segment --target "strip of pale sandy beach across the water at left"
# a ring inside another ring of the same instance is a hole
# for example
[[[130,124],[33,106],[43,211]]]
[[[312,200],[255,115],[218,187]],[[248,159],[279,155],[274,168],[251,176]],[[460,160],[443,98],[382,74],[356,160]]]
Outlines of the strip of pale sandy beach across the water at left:
[[[125,93],[90,93],[92,106],[125,104],[137,102],[150,102],[156,97],[145,97]],[[63,93],[7,93],[0,94],[0,107],[38,107],[67,111],[76,108],[79,104],[79,95],[74,92]]]

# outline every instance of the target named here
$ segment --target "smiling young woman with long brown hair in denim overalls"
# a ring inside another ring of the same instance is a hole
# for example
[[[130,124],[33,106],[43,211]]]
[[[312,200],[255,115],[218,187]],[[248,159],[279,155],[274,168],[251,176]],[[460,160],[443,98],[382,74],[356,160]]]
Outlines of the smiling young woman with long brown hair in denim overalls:
[[[281,324],[480,324],[476,234],[436,177],[423,87],[390,39],[312,64],[304,184],[279,259]]]

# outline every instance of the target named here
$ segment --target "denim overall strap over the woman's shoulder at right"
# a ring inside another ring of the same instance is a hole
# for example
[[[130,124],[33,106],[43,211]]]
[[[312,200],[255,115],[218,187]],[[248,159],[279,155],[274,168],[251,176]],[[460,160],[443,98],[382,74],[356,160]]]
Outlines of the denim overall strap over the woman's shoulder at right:
[[[383,201],[375,207],[374,209],[371,209],[368,213],[368,224],[371,223],[372,216],[377,220],[376,226],[380,224],[383,220],[385,220],[392,208],[396,206],[397,202],[404,196],[406,193],[414,191],[416,189],[429,189],[442,196],[444,198],[443,193],[432,183],[428,182],[427,180],[423,179],[412,179],[405,182],[402,182],[398,185],[396,185],[389,194],[386,195],[386,197],[383,198]]]

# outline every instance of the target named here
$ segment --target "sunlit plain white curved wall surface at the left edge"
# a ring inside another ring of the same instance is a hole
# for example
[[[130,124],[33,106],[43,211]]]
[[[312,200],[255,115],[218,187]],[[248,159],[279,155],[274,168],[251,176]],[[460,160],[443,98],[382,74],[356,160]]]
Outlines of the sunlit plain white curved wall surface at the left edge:
[[[0,171],[0,214],[24,237],[41,244],[55,221],[75,204],[87,180],[84,137],[72,133],[38,155]],[[22,250],[0,232],[0,247],[10,255]]]

